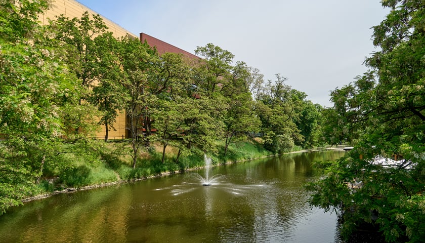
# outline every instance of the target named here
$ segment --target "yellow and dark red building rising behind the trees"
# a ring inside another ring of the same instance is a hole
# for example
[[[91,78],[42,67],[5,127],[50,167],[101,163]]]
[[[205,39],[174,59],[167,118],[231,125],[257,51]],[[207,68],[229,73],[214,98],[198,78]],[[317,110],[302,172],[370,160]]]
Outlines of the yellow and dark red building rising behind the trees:
[[[106,26],[108,27],[108,31],[111,31],[115,38],[128,36],[130,38],[137,38],[136,34],[131,33],[130,31],[122,28],[115,22],[109,20],[108,18],[102,16],[100,13],[93,11],[92,9],[80,4],[75,0],[52,0],[52,8],[49,9],[46,13],[39,16],[39,21],[42,24],[48,24],[49,19],[55,19],[56,16],[60,16],[63,14],[65,17],[69,19],[72,18],[80,18],[84,12],[88,12],[90,15],[99,14]],[[161,41],[158,38],[152,37],[145,33],[140,33],[140,40],[142,42],[147,42],[151,47],[155,47],[159,54],[165,52],[173,52],[173,53],[181,53],[188,58],[198,58],[197,56],[184,51],[178,47],[175,47],[171,44],[168,44],[164,41]],[[129,134],[126,133],[126,115],[125,111],[120,111],[117,118],[116,123],[113,125],[116,131],[109,131],[109,139],[122,139],[129,137]],[[104,138],[106,135],[106,130],[104,126],[101,126],[101,131],[96,134],[96,137],[99,139]]]

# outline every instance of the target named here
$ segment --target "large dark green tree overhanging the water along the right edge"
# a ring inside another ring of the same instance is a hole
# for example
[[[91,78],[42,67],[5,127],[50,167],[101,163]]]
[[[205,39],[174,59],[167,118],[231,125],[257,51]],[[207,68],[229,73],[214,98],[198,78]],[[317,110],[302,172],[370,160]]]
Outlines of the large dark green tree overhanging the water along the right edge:
[[[373,27],[373,43],[381,51],[366,59],[371,70],[331,94],[329,113],[337,115],[330,120],[333,134],[349,139],[354,134],[355,148],[326,166],[326,178],[310,184],[311,204],[342,209],[345,233],[370,222],[387,241],[420,242],[425,237],[425,5],[394,0],[382,6],[392,10]],[[376,156],[398,163],[385,167]],[[362,182],[355,193],[347,187],[354,180]]]

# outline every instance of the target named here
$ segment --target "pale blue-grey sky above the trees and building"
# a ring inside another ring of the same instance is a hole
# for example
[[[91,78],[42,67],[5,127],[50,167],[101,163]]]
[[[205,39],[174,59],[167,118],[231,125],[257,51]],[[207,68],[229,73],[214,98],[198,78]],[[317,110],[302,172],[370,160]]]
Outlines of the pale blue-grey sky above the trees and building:
[[[389,13],[379,0],[77,0],[139,36],[194,53],[208,43],[265,80],[286,77],[313,103],[368,70],[371,27]]]

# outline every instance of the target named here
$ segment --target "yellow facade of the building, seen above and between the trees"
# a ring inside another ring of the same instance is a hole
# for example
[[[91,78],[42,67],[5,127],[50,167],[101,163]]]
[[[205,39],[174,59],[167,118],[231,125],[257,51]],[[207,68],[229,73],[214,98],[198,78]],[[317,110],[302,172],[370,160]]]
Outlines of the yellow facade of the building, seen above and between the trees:
[[[52,8],[48,10],[43,15],[39,16],[39,21],[42,24],[49,24],[48,19],[56,19],[55,16],[60,16],[61,14],[65,15],[65,17],[68,17],[69,19],[72,18],[80,18],[81,15],[84,12],[89,12],[90,15],[92,14],[98,14],[91,10],[90,8],[78,3],[74,0],[53,0],[52,1]],[[114,37],[119,38],[122,36],[129,36],[133,38],[138,38],[137,35],[130,33],[128,30],[122,28],[118,24],[114,23],[113,21],[105,18],[104,16],[100,15],[103,18],[103,21],[105,22],[106,26],[108,27],[108,31],[113,32]],[[122,136],[125,137],[125,111],[118,112],[118,117],[116,118],[116,123],[113,125],[116,131],[109,131],[109,138],[110,139],[121,139]],[[100,127],[100,132],[96,134],[96,137],[99,139],[102,139],[105,137],[106,131],[105,126]]]

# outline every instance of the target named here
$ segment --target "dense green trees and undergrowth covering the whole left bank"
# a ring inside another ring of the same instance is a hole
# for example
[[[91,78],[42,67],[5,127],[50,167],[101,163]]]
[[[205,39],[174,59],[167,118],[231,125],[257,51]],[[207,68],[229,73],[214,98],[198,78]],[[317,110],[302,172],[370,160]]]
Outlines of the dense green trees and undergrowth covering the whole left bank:
[[[185,170],[203,153],[219,163],[317,144],[321,107],[286,78],[265,84],[258,69],[212,44],[195,50],[198,59],[159,55],[114,38],[87,12],[41,26],[48,3],[0,1],[0,214],[40,188]],[[94,139],[119,113],[128,139]],[[246,143],[257,136],[272,152]]]

